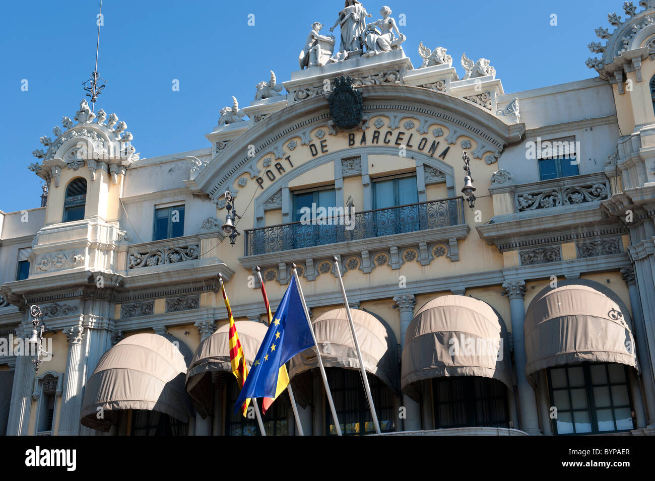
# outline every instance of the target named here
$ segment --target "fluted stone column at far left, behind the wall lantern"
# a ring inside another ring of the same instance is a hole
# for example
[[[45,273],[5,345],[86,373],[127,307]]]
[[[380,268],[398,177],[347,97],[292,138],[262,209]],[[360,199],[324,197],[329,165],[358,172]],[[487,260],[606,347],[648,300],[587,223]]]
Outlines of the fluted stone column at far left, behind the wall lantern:
[[[22,325],[16,329],[16,336],[23,338],[27,344],[28,332],[32,323]],[[32,357],[26,355],[16,356],[16,369],[14,370],[14,383],[11,391],[11,404],[9,405],[9,420],[7,421],[7,435],[28,435],[29,412],[32,406],[32,392],[34,389],[34,365]]]

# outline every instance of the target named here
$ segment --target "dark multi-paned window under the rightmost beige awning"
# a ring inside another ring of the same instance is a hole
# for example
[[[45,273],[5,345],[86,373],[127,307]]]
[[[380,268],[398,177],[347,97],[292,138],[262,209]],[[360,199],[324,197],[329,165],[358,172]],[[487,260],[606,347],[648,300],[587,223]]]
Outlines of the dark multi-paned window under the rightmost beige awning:
[[[610,363],[548,368],[557,435],[598,434],[633,429],[626,366]]]

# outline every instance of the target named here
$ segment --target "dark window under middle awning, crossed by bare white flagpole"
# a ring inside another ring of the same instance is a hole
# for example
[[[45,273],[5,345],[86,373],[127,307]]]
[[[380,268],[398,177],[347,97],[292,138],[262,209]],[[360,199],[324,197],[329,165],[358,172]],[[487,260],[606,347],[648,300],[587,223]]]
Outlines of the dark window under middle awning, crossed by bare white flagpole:
[[[327,382],[332,391],[339,425],[343,435],[365,435],[375,433],[360,370],[328,368]],[[377,420],[383,433],[394,431],[394,395],[386,385],[375,376],[367,374]],[[336,435],[332,414],[326,397],[326,433]]]

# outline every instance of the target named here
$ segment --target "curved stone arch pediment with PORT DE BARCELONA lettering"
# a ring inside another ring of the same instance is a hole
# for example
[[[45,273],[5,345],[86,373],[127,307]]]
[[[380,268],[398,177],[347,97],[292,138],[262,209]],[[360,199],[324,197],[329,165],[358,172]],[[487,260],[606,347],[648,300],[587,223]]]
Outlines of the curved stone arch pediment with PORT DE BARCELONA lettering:
[[[330,127],[325,94],[293,103],[229,143],[198,173],[196,185],[217,201],[225,190],[234,192],[234,181],[248,173],[258,183],[263,179],[260,187],[265,190],[269,187],[267,181],[277,177],[276,171],[284,174],[295,168],[293,160],[301,158],[302,150],[297,150],[300,147],[307,152],[303,156],[314,158],[344,145],[393,147],[399,151],[404,145],[407,156],[422,152],[445,160],[448,155],[456,156],[455,152],[449,154],[449,148],[457,146],[454,150],[470,150],[474,159],[486,157],[491,164],[506,145],[520,141],[525,133],[525,124],[508,125],[468,101],[425,88],[373,85],[362,86],[360,92],[365,119],[358,128],[337,132]],[[465,139],[460,142],[460,137]],[[271,174],[265,179],[267,168],[272,170],[268,169]]]

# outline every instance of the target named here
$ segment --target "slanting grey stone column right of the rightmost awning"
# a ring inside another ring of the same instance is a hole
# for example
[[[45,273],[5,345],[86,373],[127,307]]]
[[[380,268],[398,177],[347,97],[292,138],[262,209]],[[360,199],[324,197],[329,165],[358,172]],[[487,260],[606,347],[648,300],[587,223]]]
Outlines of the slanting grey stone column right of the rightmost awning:
[[[648,411],[646,423],[648,426],[654,426],[655,384],[653,382],[653,366],[650,363],[650,356],[648,355],[646,324],[641,310],[641,298],[639,297],[639,289],[637,289],[637,281],[635,280],[635,270],[632,266],[627,266],[621,269],[621,274],[623,274],[623,280],[626,281],[627,292],[630,296],[630,305],[632,306],[633,336],[635,338],[635,344],[637,344],[635,347],[637,347],[637,359],[639,359],[639,367],[641,368],[641,376],[639,377],[643,384],[646,410]]]

